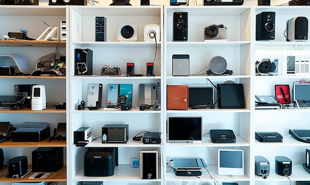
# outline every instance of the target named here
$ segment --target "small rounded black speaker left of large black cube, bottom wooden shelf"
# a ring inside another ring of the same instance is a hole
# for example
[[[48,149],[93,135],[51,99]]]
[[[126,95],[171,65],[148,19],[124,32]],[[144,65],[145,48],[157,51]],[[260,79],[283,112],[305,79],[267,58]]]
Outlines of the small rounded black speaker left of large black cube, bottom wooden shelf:
[[[28,160],[27,156],[18,156],[10,159],[8,161],[8,174],[7,178],[12,178],[13,176],[21,177],[27,173],[28,170]]]

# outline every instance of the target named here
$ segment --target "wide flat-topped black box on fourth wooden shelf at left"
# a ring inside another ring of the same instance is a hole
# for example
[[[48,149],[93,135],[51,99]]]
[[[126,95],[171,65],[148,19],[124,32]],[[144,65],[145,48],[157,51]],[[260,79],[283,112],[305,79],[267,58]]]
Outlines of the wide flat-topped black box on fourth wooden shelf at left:
[[[49,123],[26,122],[12,133],[12,141],[36,142],[50,137]]]

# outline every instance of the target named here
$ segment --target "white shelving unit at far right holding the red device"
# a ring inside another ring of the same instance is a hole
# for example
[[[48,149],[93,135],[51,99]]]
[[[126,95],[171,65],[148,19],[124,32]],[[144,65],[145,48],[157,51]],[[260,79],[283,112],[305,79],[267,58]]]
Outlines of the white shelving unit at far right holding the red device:
[[[253,142],[254,155],[263,156],[270,163],[269,176],[263,179],[261,176],[255,175],[255,185],[265,185],[266,180],[268,184],[273,185],[310,181],[309,173],[301,166],[306,163],[306,149],[309,149],[309,143],[298,141],[289,134],[289,129],[309,129],[308,120],[305,117],[309,114],[309,108],[294,108],[293,83],[299,83],[301,79],[309,79],[310,42],[308,40],[303,42],[286,41],[287,21],[299,16],[310,19],[310,13],[304,6],[256,7],[251,14],[251,22],[256,22],[256,15],[263,11],[275,12],[275,38],[274,40],[256,41],[255,32],[251,33],[253,34],[252,42],[255,43],[255,59],[252,62],[255,63],[262,59],[269,59],[271,62],[277,60],[277,74],[254,75],[255,69],[252,68],[251,73],[255,78],[254,94],[276,97],[275,85],[289,85],[290,96],[288,99],[291,104],[288,104],[289,107],[283,104],[282,109],[255,110],[254,130],[251,134],[257,131],[276,131],[283,136],[283,142],[263,143],[258,140]],[[308,25],[307,28],[309,29]],[[290,60],[292,57],[293,61]],[[293,62],[293,69],[289,67],[290,62]],[[254,97],[251,99],[254,101]],[[275,172],[276,156],[284,156],[292,161],[292,175],[284,177]]]

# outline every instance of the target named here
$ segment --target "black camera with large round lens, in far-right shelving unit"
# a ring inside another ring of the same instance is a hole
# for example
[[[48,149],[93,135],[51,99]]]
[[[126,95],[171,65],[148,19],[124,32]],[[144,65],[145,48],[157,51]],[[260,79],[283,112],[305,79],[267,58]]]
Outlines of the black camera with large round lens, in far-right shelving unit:
[[[263,59],[261,62],[255,62],[256,75],[278,75],[278,60],[271,62],[269,59]]]

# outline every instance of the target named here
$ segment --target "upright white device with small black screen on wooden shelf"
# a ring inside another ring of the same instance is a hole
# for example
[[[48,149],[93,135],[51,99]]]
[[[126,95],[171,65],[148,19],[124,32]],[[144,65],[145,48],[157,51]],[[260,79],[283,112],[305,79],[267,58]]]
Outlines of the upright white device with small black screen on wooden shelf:
[[[31,110],[42,111],[46,109],[46,93],[44,85],[32,86]]]

